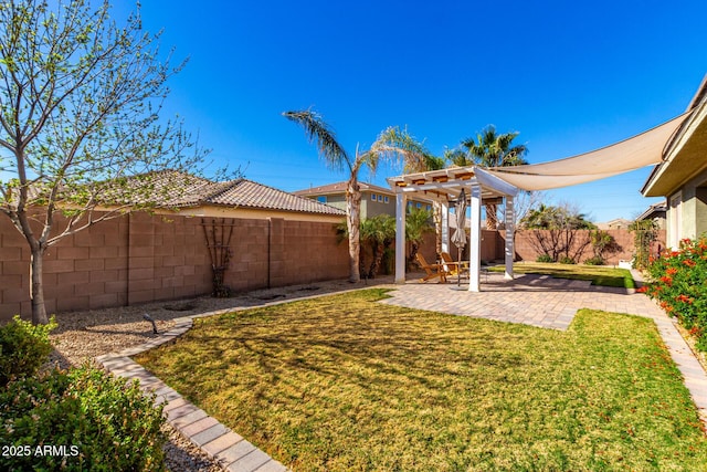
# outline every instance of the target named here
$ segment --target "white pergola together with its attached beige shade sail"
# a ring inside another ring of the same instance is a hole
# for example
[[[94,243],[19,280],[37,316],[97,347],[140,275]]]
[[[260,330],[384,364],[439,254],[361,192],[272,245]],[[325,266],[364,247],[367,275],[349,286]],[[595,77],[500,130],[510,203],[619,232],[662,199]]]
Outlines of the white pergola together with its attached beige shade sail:
[[[703,86],[700,86],[701,93]],[[405,200],[416,196],[442,204],[442,251],[449,251],[450,202],[462,189],[471,197],[469,292],[479,291],[481,209],[483,200],[506,200],[506,279],[513,279],[514,197],[523,190],[547,190],[603,179],[663,161],[665,149],[693,114],[693,105],[680,116],[620,143],[579,156],[513,167],[484,169],[453,167],[408,174],[388,179],[397,196],[395,283],[405,282]]]

